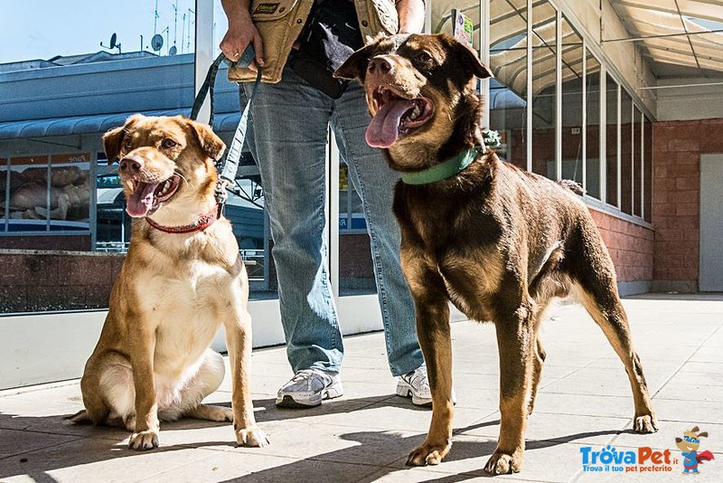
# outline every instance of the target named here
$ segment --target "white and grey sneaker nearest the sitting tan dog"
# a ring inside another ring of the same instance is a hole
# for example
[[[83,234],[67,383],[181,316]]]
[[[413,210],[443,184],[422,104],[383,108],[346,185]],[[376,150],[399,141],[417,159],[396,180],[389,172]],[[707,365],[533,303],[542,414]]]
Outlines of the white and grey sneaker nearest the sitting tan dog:
[[[277,406],[284,408],[313,408],[324,399],[343,395],[339,374],[320,369],[302,369],[281,386],[277,393]]]

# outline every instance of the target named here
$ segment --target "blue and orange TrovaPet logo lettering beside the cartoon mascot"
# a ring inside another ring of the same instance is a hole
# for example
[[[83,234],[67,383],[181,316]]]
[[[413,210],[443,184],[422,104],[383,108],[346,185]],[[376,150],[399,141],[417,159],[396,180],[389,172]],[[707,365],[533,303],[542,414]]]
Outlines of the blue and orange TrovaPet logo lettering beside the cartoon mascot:
[[[602,450],[593,450],[591,446],[583,446],[580,454],[582,469],[587,472],[667,472],[678,464],[678,459],[671,457],[671,450],[659,451],[648,447],[618,450],[608,444]]]

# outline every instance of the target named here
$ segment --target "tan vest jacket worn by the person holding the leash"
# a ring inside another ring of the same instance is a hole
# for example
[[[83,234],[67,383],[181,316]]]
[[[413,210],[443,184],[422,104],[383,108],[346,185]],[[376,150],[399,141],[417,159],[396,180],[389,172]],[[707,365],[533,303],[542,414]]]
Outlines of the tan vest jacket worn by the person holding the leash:
[[[327,0],[339,1],[339,0]],[[394,0],[353,0],[362,38],[377,33],[397,33],[399,15]],[[296,38],[301,33],[315,0],[253,0],[251,18],[264,41],[262,80],[276,83],[281,80],[286,59]],[[231,67],[229,80],[244,82],[256,80],[256,72],[248,68]]]

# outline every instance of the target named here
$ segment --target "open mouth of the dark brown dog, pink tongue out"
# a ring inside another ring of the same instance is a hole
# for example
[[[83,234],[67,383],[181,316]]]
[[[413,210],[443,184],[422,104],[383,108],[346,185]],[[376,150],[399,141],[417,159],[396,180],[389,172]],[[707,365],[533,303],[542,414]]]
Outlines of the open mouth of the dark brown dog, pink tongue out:
[[[371,147],[390,147],[412,129],[425,124],[434,112],[434,104],[423,97],[407,99],[380,87],[371,95],[372,108],[377,114],[367,128],[367,144]]]

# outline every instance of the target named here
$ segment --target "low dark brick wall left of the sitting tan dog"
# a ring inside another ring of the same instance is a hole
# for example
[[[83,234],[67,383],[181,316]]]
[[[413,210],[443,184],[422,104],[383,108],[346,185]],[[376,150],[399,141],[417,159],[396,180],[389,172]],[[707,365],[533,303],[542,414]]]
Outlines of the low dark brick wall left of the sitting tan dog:
[[[0,313],[107,308],[123,255],[0,251]]]

